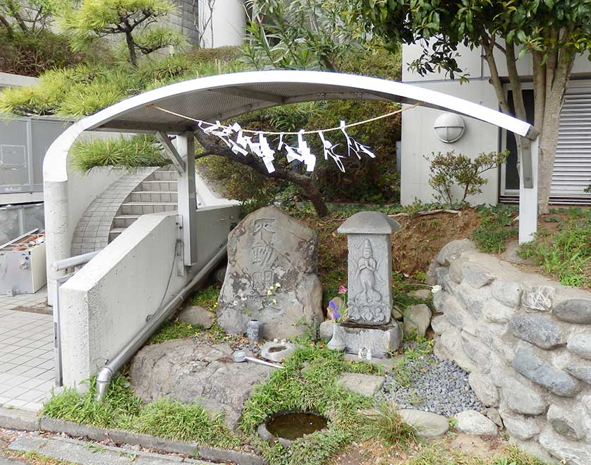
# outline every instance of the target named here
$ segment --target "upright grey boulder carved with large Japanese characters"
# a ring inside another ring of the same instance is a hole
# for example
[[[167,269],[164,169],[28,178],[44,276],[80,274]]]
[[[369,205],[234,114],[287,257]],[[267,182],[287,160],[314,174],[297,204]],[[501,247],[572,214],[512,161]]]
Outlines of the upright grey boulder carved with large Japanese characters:
[[[228,269],[217,308],[218,323],[243,334],[248,320],[263,323],[263,337],[286,339],[322,315],[317,234],[276,207],[245,217],[228,238]]]

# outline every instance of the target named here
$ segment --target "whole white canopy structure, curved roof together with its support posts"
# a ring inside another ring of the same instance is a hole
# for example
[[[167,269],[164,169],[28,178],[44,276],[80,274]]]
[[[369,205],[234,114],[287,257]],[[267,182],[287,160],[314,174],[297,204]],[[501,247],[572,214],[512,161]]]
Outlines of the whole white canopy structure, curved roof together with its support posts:
[[[96,114],[81,119],[57,138],[47,150],[43,164],[46,202],[56,191],[66,201],[68,181],[68,150],[84,131],[156,133],[164,143],[166,154],[179,172],[178,209],[183,219],[183,250],[185,265],[195,262],[195,170],[193,153],[197,123],[155,109],[154,106],[189,116],[192,119],[216,121],[229,119],[249,111],[298,102],[332,99],[381,100],[453,111],[493,124],[525,138],[519,146],[523,160],[520,176],[519,241],[531,241],[537,229],[537,131],[525,121],[441,92],[366,76],[320,71],[250,71],[197,78],[159,87],[111,105]],[[168,135],[175,134],[176,147]],[[523,146],[523,147],[521,147]],[[57,187],[59,186],[59,187]],[[59,196],[58,195],[58,196]],[[59,209],[58,209],[59,211]],[[55,212],[54,212],[55,213]],[[64,215],[67,215],[64,212]],[[53,222],[46,224],[52,247]],[[56,226],[56,230],[59,227]],[[68,235],[56,231],[60,243],[55,254],[48,257],[66,258]]]

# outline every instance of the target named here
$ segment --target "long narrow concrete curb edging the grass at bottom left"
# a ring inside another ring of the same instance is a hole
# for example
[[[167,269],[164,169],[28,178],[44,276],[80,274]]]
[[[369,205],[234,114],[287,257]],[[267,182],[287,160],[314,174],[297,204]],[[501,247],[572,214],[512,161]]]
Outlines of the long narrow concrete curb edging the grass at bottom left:
[[[34,411],[6,409],[0,407],[0,428],[9,430],[47,431],[65,433],[72,437],[87,437],[94,441],[110,440],[115,444],[139,445],[146,449],[157,449],[173,454],[185,454],[197,459],[230,461],[240,465],[267,465],[267,461],[252,452],[219,449],[198,445],[197,442],[183,442],[152,435],[133,433],[126,430],[102,429],[80,425],[72,421],[58,420],[49,416],[37,416]]]

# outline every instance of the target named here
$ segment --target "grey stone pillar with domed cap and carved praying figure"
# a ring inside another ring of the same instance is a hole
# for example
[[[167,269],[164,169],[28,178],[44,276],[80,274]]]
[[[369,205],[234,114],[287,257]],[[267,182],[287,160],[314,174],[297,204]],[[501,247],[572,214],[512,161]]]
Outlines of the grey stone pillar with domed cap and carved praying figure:
[[[391,235],[400,224],[381,212],[358,212],[337,231],[347,234],[348,314],[341,325],[346,351],[383,357],[398,349],[402,331],[392,312]]]

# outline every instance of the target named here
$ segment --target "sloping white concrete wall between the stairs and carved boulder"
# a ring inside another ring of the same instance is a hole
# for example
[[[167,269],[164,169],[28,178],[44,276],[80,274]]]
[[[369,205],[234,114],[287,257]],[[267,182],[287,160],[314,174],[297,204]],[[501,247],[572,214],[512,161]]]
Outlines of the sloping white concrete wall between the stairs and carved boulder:
[[[178,276],[176,218],[174,212],[142,215],[61,286],[64,385],[94,375],[190,281],[224,245],[238,207],[197,211],[198,262],[184,276]]]

